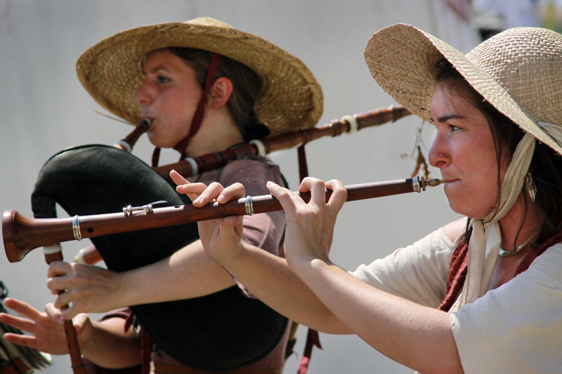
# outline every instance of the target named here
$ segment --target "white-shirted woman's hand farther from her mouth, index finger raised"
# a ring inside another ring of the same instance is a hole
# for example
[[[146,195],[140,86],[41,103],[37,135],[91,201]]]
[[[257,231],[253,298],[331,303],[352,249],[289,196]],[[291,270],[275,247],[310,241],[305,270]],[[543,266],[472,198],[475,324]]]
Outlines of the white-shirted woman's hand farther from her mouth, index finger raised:
[[[177,192],[187,195],[197,208],[214,201],[223,204],[245,196],[244,186],[240,183],[224,188],[220,183],[214,182],[207,187],[203,183],[188,182],[176,171],[171,171],[170,176],[178,185]],[[198,222],[199,236],[205,251],[221,263],[236,258],[242,252],[243,222],[242,216]]]

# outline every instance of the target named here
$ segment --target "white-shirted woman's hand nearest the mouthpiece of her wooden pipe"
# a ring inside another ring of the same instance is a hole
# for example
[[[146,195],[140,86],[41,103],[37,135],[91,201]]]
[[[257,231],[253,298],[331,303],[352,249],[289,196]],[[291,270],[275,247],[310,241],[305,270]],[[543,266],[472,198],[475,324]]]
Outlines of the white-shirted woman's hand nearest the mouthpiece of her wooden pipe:
[[[316,258],[329,262],[336,216],[347,199],[344,185],[339,180],[324,183],[319,179],[305,178],[299,192],[311,192],[308,203],[273,182],[268,182],[267,187],[285,211],[285,256],[289,267],[296,271],[296,267]],[[326,188],[333,191],[327,203]]]

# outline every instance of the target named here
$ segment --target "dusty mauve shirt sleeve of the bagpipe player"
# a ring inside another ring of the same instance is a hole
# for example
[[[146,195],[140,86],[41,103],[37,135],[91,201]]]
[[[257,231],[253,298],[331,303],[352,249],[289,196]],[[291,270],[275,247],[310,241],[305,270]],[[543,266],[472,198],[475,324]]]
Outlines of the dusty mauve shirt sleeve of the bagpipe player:
[[[228,163],[223,169],[219,182],[225,187],[236,182],[242,183],[246,196],[270,195],[266,188],[268,180],[284,185],[279,167],[267,159],[241,159]],[[263,249],[273,255],[280,255],[280,245],[285,233],[285,213],[276,211],[244,215],[242,241]],[[244,295],[255,298],[247,288],[235,279]]]

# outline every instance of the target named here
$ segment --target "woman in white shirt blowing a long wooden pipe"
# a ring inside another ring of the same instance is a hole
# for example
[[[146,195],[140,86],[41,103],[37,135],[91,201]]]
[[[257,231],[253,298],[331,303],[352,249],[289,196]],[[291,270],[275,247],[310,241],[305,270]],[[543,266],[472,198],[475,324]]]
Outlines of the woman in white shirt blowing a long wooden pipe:
[[[372,36],[365,58],[382,88],[436,126],[429,161],[450,207],[466,218],[345,272],[329,260],[346,200],[341,182],[305,178],[304,203],[272,181],[287,221],[286,259],[241,241],[240,217],[200,222],[205,250],[290,319],[357,334],[421,373],[559,373],[562,36],[509,29],[463,55],[394,25]],[[185,182],[178,191],[196,206],[244,196],[239,184]],[[49,286],[72,290],[72,279]],[[96,300],[70,295],[55,305]],[[88,308],[65,317],[81,309]]]

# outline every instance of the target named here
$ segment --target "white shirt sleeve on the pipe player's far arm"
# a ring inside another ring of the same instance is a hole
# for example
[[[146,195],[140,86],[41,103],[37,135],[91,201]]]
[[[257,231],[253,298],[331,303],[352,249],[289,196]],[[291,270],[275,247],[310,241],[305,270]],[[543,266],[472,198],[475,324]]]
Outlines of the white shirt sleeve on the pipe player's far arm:
[[[445,297],[455,243],[438,229],[350,274],[379,290],[436,308]]]

